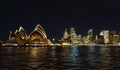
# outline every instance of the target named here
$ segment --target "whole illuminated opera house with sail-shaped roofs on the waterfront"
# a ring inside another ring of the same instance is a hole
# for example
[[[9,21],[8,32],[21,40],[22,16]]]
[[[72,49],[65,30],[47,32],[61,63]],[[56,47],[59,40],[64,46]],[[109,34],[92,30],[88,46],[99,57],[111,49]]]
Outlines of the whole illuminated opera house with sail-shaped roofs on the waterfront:
[[[29,35],[27,35],[21,26],[15,32],[10,31],[9,39],[5,44],[16,44],[19,46],[49,46],[52,42],[47,38],[43,27],[37,24]]]

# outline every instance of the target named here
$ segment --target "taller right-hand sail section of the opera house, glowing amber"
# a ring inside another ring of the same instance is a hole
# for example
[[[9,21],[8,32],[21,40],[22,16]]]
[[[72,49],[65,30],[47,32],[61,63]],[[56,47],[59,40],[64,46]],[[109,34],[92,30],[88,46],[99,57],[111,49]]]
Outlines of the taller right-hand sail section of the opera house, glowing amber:
[[[50,44],[50,40],[47,39],[45,30],[40,25],[37,25],[29,34],[28,41],[28,43]]]

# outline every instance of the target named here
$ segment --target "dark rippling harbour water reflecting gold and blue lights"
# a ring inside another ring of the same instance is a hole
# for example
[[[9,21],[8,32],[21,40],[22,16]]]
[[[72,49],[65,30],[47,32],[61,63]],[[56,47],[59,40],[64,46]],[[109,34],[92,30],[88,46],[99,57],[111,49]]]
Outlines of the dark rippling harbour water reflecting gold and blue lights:
[[[0,70],[120,70],[120,47],[4,47]]]

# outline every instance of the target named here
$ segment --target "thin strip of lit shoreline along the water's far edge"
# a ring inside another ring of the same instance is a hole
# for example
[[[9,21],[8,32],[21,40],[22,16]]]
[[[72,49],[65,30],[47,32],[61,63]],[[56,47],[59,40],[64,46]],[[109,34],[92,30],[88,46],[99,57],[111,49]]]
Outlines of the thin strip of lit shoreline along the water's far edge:
[[[1,44],[1,47],[50,47],[50,46],[120,46],[120,44],[25,44],[25,45],[19,45],[19,44],[12,44],[12,43],[6,43]]]

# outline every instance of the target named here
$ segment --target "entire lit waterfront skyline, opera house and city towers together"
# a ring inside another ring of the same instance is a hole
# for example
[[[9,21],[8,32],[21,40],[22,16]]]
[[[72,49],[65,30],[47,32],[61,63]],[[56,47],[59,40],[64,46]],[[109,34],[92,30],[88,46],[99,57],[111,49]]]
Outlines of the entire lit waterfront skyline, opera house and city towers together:
[[[95,34],[94,29],[89,29],[85,35],[76,32],[74,27],[65,29],[61,38],[49,39],[46,30],[37,24],[29,34],[22,26],[15,31],[10,31],[9,38],[1,41],[2,46],[66,46],[66,45],[119,45],[120,32],[101,30]]]

